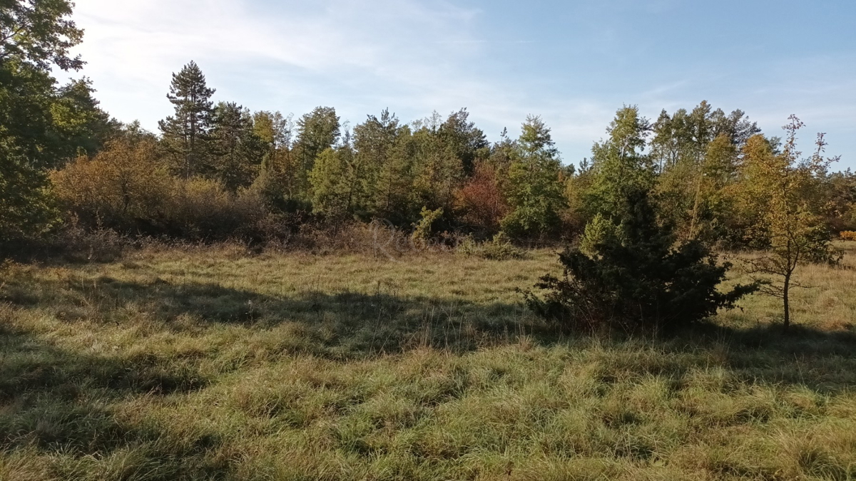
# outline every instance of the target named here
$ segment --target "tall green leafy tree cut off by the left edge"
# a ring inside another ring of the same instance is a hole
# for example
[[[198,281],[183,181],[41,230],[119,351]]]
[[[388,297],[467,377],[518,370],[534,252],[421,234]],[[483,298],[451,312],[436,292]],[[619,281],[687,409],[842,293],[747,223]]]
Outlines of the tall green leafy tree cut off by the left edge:
[[[72,7],[68,0],[0,6],[0,241],[38,235],[56,220],[45,169],[74,151],[63,128],[80,122],[62,109],[75,85],[57,92],[51,74],[83,66],[69,53],[83,37]]]

